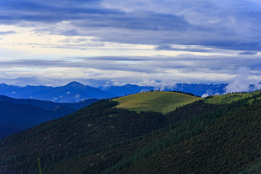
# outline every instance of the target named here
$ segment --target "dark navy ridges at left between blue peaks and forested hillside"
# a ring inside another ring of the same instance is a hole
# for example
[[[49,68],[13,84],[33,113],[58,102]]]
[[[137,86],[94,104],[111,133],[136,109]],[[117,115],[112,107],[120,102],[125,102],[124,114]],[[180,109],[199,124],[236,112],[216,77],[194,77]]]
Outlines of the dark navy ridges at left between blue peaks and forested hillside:
[[[83,108],[98,99],[77,103],[55,103],[33,99],[13,99],[0,95],[0,139]]]

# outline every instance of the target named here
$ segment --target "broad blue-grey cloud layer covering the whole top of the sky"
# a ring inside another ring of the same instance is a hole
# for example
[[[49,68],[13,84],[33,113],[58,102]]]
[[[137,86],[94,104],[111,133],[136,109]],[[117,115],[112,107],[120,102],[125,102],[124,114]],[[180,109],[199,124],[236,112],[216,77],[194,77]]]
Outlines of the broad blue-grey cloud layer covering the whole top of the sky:
[[[159,50],[208,52],[204,48],[222,48],[253,52],[261,50],[260,9],[259,2],[248,0],[2,0],[0,23],[34,26],[38,32],[44,29],[50,34],[96,36],[105,42],[159,45]],[[61,31],[58,23],[62,21],[70,23]],[[170,44],[199,46],[164,46]]]

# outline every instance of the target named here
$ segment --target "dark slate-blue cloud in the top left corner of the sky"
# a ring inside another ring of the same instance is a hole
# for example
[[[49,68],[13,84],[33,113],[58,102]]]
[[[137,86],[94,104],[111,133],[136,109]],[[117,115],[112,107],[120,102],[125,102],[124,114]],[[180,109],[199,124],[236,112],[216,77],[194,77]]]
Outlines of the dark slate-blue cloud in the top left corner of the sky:
[[[55,3],[48,1],[20,1],[20,0],[1,0],[0,11],[2,23],[6,20],[18,23],[25,21],[41,21],[45,23],[54,23],[63,20],[84,19],[90,14],[119,14],[117,10],[111,10],[99,7],[100,0],[96,1],[62,1]]]

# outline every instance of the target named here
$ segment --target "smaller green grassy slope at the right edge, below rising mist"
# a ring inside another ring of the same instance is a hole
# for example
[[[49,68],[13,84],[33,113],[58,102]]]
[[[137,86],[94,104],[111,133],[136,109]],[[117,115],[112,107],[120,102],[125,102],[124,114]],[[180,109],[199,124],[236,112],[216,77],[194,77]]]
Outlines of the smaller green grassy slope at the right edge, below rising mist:
[[[204,101],[207,103],[213,103],[213,104],[225,104],[225,103],[231,103],[233,101],[235,102],[240,99],[252,97],[254,95],[258,95],[260,92],[261,91],[259,90],[259,91],[255,91],[255,92],[242,93],[242,94],[234,93],[234,94],[208,96],[208,97],[204,98]],[[257,99],[261,99],[261,97],[257,98]],[[249,101],[249,102],[252,102],[252,101]]]

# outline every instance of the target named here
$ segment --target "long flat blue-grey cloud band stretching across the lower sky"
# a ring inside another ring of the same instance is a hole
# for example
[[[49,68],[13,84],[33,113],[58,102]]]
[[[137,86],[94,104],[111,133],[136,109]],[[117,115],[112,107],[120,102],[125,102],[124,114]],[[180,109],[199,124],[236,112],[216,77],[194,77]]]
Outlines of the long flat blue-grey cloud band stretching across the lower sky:
[[[237,61],[234,61],[237,59]],[[63,59],[17,59],[5,60],[0,67],[86,67],[99,70],[155,72],[157,69],[183,69],[184,72],[192,73],[201,69],[201,72],[228,70],[236,71],[238,67],[252,67],[252,70],[260,71],[260,58],[228,57],[228,56],[195,56],[192,54],[175,57],[65,57]]]

